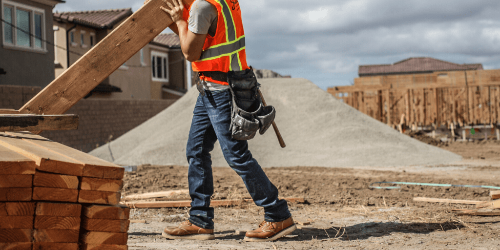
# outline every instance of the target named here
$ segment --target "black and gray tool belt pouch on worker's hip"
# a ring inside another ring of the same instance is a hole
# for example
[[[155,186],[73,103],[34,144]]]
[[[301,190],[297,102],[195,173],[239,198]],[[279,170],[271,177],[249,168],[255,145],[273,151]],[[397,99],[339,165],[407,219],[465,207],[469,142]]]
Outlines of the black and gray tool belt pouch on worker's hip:
[[[253,70],[227,72],[227,82],[232,94],[231,125],[232,138],[249,140],[257,130],[263,134],[274,120],[272,106],[263,106],[257,89],[260,84]]]

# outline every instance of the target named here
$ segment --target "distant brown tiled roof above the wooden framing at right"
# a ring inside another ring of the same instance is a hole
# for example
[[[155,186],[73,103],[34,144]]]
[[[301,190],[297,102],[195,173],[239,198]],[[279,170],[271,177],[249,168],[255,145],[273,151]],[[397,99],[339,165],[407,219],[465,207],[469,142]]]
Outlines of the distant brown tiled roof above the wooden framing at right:
[[[358,74],[363,76],[475,69],[482,69],[482,64],[457,64],[431,57],[410,57],[392,64],[359,65]]]

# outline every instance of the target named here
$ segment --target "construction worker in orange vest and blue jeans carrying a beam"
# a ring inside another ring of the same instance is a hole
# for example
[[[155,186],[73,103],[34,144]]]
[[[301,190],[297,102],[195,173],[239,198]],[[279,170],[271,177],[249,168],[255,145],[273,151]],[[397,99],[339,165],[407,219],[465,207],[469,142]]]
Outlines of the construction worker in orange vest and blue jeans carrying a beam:
[[[148,0],[146,0],[148,1]],[[165,1],[165,0],[163,0]],[[246,232],[247,241],[271,241],[295,228],[285,200],[252,157],[246,140],[236,140],[229,131],[231,92],[228,71],[250,70],[246,64],[244,33],[237,0],[172,0],[161,9],[171,16],[169,27],[179,35],[185,58],[200,75],[200,84],[186,156],[191,196],[189,219],[166,227],[170,239],[213,239],[213,178],[210,151],[218,139],[224,158],[243,179],[256,205],[264,208],[264,221]],[[253,73],[253,72],[252,72]]]

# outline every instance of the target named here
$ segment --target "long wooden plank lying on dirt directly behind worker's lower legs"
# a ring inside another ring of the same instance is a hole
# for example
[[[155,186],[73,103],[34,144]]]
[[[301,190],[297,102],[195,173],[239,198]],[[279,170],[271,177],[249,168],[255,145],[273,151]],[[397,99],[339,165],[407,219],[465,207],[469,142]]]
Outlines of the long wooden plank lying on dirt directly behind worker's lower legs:
[[[301,197],[283,198],[289,202],[304,202]],[[252,199],[219,199],[211,200],[210,206],[241,205],[253,201]],[[154,207],[189,207],[191,200],[167,200],[167,201],[127,201],[125,205],[133,208],[154,208]]]

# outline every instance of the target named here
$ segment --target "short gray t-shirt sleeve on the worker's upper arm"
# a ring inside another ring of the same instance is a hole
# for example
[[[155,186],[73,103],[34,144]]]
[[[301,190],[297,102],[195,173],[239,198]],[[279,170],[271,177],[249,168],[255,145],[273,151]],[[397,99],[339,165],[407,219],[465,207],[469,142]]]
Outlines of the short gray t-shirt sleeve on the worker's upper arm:
[[[206,34],[217,19],[217,9],[205,0],[195,0],[189,11],[187,28],[196,34]]]

